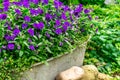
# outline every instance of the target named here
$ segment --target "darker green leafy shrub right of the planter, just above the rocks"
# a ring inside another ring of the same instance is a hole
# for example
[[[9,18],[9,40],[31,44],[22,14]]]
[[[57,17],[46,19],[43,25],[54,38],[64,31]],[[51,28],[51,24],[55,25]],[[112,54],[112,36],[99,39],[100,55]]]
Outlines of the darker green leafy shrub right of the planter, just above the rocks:
[[[101,72],[111,74],[112,71],[118,69],[117,73],[120,73],[119,44],[120,44],[120,30],[115,29],[103,30],[100,33],[97,33],[92,38],[92,41],[89,44],[92,46],[89,46],[87,50],[87,52],[89,53],[88,57],[98,59],[98,60],[93,59],[93,61],[98,66]]]

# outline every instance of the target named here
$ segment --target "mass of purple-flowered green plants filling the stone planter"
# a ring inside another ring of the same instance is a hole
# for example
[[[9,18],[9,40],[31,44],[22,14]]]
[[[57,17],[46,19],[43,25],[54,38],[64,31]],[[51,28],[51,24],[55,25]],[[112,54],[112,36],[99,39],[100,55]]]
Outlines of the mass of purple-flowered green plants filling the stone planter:
[[[0,8],[0,79],[16,80],[36,62],[69,52],[98,31],[92,10],[59,0],[3,0]],[[14,74],[14,75],[13,75]]]

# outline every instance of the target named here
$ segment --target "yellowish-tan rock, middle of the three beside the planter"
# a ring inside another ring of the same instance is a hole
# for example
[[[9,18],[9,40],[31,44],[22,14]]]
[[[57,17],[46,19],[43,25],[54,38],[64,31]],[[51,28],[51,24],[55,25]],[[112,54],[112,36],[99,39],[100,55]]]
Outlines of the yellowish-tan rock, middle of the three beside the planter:
[[[98,69],[94,65],[82,66],[84,70],[84,75],[80,80],[96,80],[98,75]]]

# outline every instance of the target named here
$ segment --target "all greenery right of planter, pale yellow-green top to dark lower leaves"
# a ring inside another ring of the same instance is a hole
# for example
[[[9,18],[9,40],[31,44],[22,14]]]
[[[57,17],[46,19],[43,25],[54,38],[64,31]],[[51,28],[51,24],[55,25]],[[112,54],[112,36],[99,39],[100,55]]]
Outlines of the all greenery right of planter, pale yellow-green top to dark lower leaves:
[[[94,64],[100,72],[120,79],[120,5],[89,5],[99,16],[101,28],[88,45],[84,64]]]

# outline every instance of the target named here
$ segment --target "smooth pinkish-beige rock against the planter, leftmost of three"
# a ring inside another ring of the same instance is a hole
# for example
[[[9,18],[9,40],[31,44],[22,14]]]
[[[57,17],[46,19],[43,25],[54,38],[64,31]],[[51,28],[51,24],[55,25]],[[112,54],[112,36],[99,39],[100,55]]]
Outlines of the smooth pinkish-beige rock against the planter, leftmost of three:
[[[56,80],[80,80],[84,74],[84,70],[80,67],[73,66],[72,68],[61,72]]]

